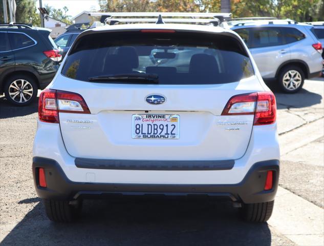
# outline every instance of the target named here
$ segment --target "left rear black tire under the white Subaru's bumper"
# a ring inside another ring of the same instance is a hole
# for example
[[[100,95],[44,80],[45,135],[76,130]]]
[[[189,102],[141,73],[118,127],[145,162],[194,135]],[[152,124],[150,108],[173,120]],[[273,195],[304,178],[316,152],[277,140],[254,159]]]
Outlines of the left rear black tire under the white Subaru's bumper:
[[[55,222],[72,222],[81,214],[82,200],[71,205],[69,201],[43,199],[47,217]]]

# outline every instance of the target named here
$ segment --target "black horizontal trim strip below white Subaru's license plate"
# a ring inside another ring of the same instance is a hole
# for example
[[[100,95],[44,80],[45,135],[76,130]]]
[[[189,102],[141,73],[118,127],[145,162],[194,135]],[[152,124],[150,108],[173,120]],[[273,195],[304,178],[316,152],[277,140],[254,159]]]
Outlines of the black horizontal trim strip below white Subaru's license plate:
[[[75,158],[75,166],[89,169],[114,170],[230,170],[234,160],[109,160]]]

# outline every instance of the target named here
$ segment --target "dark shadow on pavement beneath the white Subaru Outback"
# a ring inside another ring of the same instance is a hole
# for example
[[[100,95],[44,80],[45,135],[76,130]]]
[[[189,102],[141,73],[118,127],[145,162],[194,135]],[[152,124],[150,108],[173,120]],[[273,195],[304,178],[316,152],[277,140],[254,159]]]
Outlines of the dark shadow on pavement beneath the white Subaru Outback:
[[[267,223],[237,218],[230,202],[208,200],[85,200],[82,219],[54,223],[42,203],[2,245],[270,245]]]

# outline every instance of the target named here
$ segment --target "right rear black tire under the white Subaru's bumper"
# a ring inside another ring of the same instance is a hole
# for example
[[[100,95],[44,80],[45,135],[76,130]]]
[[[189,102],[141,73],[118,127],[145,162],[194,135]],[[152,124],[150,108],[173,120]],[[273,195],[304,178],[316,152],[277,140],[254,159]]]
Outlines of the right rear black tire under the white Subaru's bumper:
[[[249,222],[266,222],[272,214],[274,201],[242,204],[241,214]]]

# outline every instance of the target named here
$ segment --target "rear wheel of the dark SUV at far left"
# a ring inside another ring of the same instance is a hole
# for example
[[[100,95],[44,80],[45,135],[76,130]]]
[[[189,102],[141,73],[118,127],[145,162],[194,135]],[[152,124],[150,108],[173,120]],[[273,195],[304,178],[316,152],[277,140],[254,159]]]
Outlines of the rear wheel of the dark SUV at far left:
[[[16,74],[6,81],[4,91],[7,100],[16,106],[26,106],[37,96],[36,81],[24,74]]]

